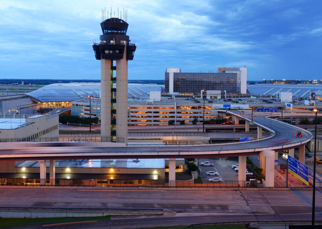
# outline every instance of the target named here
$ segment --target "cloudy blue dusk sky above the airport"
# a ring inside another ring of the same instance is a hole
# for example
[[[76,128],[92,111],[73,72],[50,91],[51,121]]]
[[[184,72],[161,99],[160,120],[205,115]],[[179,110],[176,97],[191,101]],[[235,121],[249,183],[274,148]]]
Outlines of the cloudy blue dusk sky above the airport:
[[[91,46],[111,6],[128,9],[137,45],[129,79],[244,65],[248,80],[322,79],[319,0],[2,0],[0,77],[99,79]]]

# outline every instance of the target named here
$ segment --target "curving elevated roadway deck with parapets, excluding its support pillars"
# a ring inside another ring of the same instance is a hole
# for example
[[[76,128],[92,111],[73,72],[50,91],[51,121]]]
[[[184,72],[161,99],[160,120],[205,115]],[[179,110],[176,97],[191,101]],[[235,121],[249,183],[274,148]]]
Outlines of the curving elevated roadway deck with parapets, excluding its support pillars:
[[[251,120],[250,115],[241,115],[239,112],[230,112],[245,119]],[[237,142],[228,144],[205,144],[205,145],[162,145],[162,146],[125,146],[95,148],[86,147],[89,143],[73,143],[76,147],[24,147],[15,150],[0,150],[0,160],[36,160],[36,159],[111,159],[111,158],[184,158],[184,157],[214,157],[232,155],[259,154],[260,151],[271,149],[280,151],[282,149],[295,148],[305,144],[312,138],[307,130],[299,129],[296,126],[265,118],[265,115],[255,116],[253,122],[273,129],[274,135],[250,142]],[[301,137],[294,137],[297,131],[302,131]],[[26,143],[21,143],[25,145]],[[33,143],[32,146],[62,145],[62,143]],[[70,143],[69,143],[70,144]],[[80,147],[77,147],[80,146]]]

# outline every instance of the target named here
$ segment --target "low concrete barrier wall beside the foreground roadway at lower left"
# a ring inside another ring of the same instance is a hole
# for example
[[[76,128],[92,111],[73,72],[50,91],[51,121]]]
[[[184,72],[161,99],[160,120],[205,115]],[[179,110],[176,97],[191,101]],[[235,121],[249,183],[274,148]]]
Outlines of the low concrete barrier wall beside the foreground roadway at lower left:
[[[54,209],[54,208],[0,208],[1,218],[54,218],[90,216],[163,215],[164,210],[144,209]],[[169,215],[168,212],[166,212]],[[173,213],[174,214],[174,213]]]

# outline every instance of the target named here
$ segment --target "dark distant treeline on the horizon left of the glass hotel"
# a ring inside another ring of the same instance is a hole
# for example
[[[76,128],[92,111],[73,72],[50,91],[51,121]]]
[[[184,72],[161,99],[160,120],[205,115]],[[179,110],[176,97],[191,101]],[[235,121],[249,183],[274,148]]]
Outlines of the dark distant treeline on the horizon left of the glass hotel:
[[[39,84],[39,85],[47,85],[47,84],[57,84],[57,83],[100,83],[100,80],[93,79],[69,79],[69,80],[60,80],[60,79],[0,79],[0,84],[21,84],[21,81],[24,81],[25,85],[28,84]],[[128,80],[128,83],[132,84],[164,84],[164,80]]]

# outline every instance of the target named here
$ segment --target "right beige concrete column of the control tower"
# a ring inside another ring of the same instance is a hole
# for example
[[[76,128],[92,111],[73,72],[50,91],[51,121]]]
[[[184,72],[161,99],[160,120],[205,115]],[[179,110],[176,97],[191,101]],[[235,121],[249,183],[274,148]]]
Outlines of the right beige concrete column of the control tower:
[[[124,41],[126,42],[126,41]],[[128,142],[128,60],[116,60],[116,142]]]

